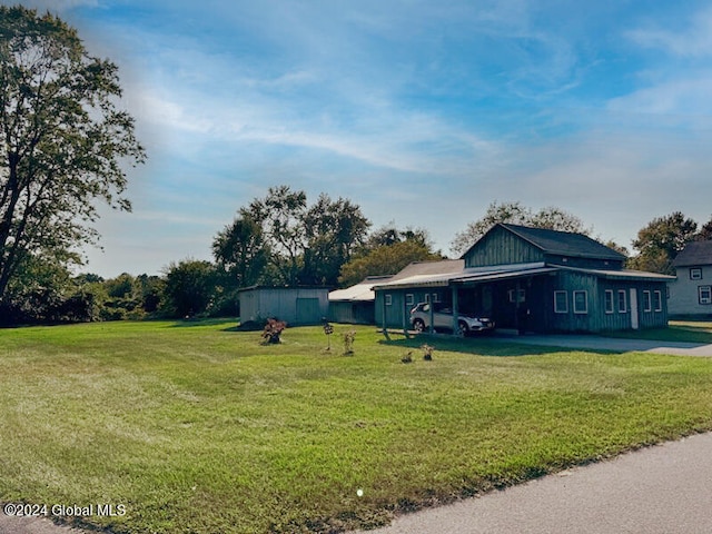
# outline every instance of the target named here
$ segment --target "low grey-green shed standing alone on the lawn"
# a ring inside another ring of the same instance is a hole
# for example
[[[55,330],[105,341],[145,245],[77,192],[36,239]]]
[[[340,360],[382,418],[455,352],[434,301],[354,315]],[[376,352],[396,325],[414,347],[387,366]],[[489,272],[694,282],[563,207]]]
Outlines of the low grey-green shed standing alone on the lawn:
[[[289,325],[317,325],[329,309],[325,287],[253,286],[239,289],[237,295],[243,324],[276,317]]]

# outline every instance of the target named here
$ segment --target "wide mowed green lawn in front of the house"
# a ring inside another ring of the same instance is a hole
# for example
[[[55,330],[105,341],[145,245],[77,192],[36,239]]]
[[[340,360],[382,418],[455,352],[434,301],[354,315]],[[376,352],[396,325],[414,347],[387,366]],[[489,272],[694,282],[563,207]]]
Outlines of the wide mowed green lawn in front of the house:
[[[712,428],[712,359],[234,323],[0,330],[0,501],[116,533],[329,532]],[[414,362],[400,359],[413,353]]]

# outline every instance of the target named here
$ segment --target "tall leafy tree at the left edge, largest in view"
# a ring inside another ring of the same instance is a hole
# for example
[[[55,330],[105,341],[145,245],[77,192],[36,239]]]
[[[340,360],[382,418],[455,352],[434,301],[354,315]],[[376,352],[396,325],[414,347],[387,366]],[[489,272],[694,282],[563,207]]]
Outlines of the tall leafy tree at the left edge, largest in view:
[[[118,69],[57,17],[0,7],[0,300],[30,256],[79,261],[96,200],[130,210],[125,169],[142,162]]]

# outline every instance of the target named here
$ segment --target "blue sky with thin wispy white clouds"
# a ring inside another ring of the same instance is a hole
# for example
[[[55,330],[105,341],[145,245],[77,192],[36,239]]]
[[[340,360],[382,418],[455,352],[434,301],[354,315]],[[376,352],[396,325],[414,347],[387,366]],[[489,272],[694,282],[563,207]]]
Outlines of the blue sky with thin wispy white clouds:
[[[0,3],[13,3],[0,0]],[[44,0],[120,68],[149,161],[85,270],[210,259],[269,186],[449,244],[492,201],[630,248],[712,216],[712,6],[574,0]]]

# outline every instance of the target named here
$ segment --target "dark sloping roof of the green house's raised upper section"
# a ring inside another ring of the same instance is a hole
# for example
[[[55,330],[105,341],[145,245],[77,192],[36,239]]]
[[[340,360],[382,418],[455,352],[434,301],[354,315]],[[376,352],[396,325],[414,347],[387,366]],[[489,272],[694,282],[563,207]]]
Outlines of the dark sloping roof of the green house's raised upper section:
[[[532,228],[528,226],[508,225],[500,222],[495,227],[502,227],[522,239],[534,245],[545,254],[577,257],[600,258],[623,261],[625,256],[595,239],[571,231],[550,230],[546,228]],[[491,230],[492,231],[492,230]]]

